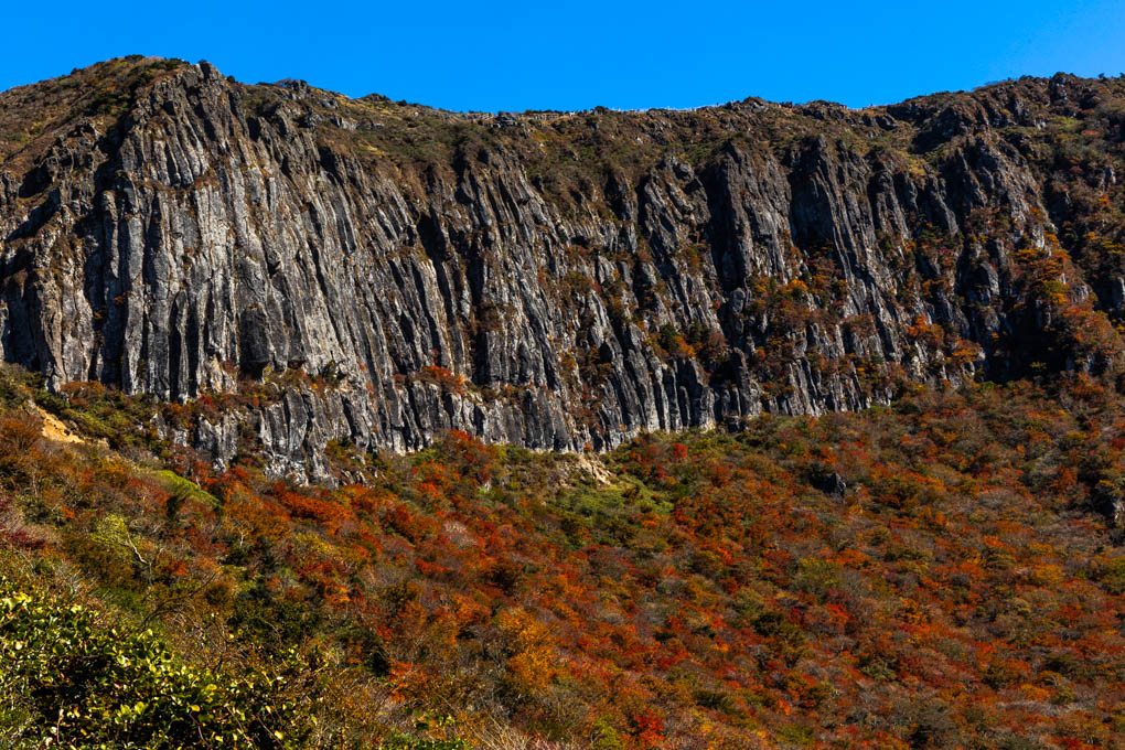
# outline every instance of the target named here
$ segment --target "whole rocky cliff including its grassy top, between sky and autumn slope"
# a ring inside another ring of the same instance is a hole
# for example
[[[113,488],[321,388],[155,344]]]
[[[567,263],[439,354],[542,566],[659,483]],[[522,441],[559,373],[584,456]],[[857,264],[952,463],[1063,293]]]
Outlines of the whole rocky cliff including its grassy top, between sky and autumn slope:
[[[179,439],[314,473],[331,439],[602,448],[1102,371],[1122,102],[472,116],[115,61],[0,94],[0,347],[56,388],[264,394]]]

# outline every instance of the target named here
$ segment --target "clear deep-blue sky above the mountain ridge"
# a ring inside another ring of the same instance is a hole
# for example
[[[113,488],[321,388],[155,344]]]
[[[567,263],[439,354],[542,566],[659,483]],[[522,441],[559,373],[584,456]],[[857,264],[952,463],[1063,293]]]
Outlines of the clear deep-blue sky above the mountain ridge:
[[[127,54],[460,110],[747,96],[863,107],[1023,74],[1125,71],[1120,0],[56,0],[9,3],[3,17],[0,90]]]

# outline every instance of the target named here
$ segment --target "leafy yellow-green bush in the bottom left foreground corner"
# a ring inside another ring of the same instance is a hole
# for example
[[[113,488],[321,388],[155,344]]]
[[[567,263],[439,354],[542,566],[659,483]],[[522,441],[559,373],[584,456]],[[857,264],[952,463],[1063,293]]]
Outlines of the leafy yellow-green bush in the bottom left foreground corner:
[[[177,660],[155,636],[0,579],[0,743],[58,747],[300,747],[313,720],[286,675],[232,678]],[[299,665],[289,654],[287,671]]]

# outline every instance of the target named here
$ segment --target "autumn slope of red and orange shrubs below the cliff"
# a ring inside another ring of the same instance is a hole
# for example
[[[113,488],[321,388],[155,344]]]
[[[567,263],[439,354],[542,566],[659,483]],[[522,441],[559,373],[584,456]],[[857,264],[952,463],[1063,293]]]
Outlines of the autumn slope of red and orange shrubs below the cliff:
[[[189,674],[289,670],[288,747],[1123,747],[1125,554],[1091,510],[1125,497],[1125,409],[1084,377],[601,458],[333,443],[334,489],[114,451],[80,425],[154,406],[97,387],[10,369],[0,396],[9,586],[154,629]],[[3,679],[33,746],[91,695]]]

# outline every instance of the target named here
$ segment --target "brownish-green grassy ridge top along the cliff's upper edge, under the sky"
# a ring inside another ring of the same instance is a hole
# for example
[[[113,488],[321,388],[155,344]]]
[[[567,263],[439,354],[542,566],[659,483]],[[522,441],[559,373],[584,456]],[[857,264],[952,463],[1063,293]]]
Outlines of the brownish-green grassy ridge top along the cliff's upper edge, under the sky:
[[[140,92],[188,67],[179,60],[133,55],[0,92],[0,161],[21,154],[9,169],[32,163],[42,152],[37,144],[53,141],[83,118],[109,125]],[[749,98],[691,110],[598,107],[488,114],[452,112],[378,94],[350,99],[303,81],[227,80],[246,112],[268,115],[284,102],[296,102],[297,109],[313,115],[325,142],[369,159],[448,166],[459,153],[478,146],[519,145],[533,177],[568,182],[574,182],[568,177],[579,177],[568,174],[575,169],[601,178],[597,173],[604,170],[640,174],[669,156],[699,163],[727,143],[776,151],[820,136],[860,152],[920,156],[990,128],[1006,136],[1016,135],[1006,128],[1017,128],[1024,137],[1048,142],[1072,132],[1076,117],[1091,120],[1082,130],[1112,130],[1125,101],[1122,79],[1059,74],[856,110],[826,101],[792,105]],[[1069,87],[1072,96],[1060,99],[1060,87]],[[1101,135],[1113,141],[1112,133]]]

